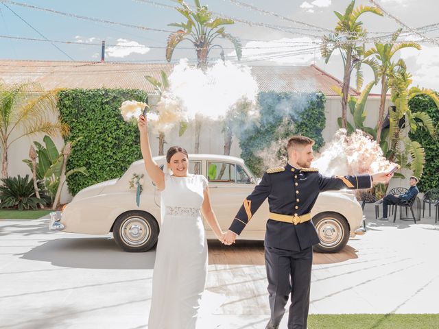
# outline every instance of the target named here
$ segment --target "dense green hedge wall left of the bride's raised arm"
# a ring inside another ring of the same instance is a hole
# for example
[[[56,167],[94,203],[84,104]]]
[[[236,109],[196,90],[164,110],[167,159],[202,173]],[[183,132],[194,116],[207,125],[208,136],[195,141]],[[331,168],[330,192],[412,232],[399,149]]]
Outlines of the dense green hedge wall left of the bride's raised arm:
[[[141,158],[139,130],[123,121],[123,101],[147,102],[142,90],[70,89],[58,95],[62,120],[70,126],[68,141],[81,137],[67,161],[67,171],[86,167],[89,175],[71,175],[67,184],[72,195],[82,188],[120,177]]]

